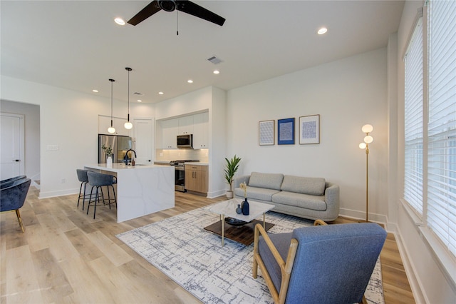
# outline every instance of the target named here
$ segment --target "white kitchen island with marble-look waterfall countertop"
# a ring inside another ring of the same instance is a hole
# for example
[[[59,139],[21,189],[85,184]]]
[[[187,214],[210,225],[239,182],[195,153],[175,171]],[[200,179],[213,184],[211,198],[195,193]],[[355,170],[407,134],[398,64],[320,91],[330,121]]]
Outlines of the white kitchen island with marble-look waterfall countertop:
[[[118,223],[175,206],[175,169],[172,166],[98,163],[84,168],[117,177]],[[90,193],[91,186],[87,187],[86,191]]]

